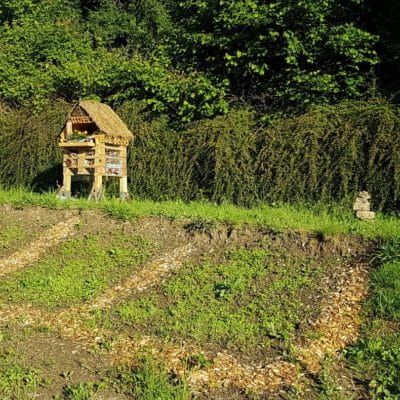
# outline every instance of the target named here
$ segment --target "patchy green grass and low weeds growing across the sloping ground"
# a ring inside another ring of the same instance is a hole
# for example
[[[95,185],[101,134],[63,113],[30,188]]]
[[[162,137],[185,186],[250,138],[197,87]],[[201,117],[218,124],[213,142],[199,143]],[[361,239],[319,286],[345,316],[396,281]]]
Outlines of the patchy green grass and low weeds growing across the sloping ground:
[[[400,220],[396,217],[378,214],[375,222],[368,223],[356,220],[350,211],[328,212],[322,207],[265,205],[245,209],[199,202],[121,202],[115,199],[98,203],[82,199],[62,202],[53,193],[38,195],[23,190],[0,190],[0,204],[20,208],[98,209],[111,217],[133,222],[140,217],[160,216],[190,220],[195,226],[206,228],[227,223],[238,227],[263,226],[276,231],[313,232],[323,237],[350,234],[378,239],[380,248],[371,259],[371,294],[365,305],[362,338],[346,351],[339,364],[351,371],[352,379],[357,378],[352,382],[360,382],[363,394],[367,390],[370,397],[377,400],[400,398]],[[0,250],[13,247],[18,236],[23,235],[21,224],[0,223]],[[128,236],[123,232],[112,236],[92,232],[74,237],[46,254],[33,267],[3,279],[0,302],[29,303],[57,310],[89,301],[134,273],[151,255],[152,243],[141,236]],[[318,292],[320,282],[337,265],[326,258],[317,260],[285,252],[282,248],[281,252],[271,253],[261,243],[258,247],[243,245],[229,249],[219,258],[209,254],[186,263],[167,281],[144,295],[85,317],[85,323],[93,328],[112,329],[116,335],[150,334],[175,343],[194,342],[216,351],[228,349],[252,359],[257,359],[257,355],[264,357],[269,348],[290,356],[293,338],[299,336],[299,331],[301,335],[301,322],[309,318],[308,311],[318,308],[311,299],[311,308],[307,309],[310,304],[304,294],[310,298],[314,293],[317,299],[321,295]],[[336,261],[343,263],[340,258]],[[42,387],[51,386],[51,382],[43,379],[45,373],[41,371],[46,365],[25,362],[20,344],[12,342],[10,332],[7,326],[0,336],[0,397],[32,398]],[[32,336],[38,333],[34,329],[32,332]],[[344,394],[342,388],[346,382],[341,378],[339,364],[333,360],[315,379],[311,389],[309,386],[302,390],[297,388],[296,393],[292,388],[282,393],[282,398],[357,396],[356,392],[351,392],[353,387],[350,387],[350,396]],[[97,380],[94,377],[92,381],[67,381],[69,372],[64,375],[66,382],[59,392],[60,399],[95,398],[96,394],[107,390],[115,390],[126,398],[190,398],[183,382],[173,380],[161,365],[148,358],[132,368],[101,371],[101,378]]]

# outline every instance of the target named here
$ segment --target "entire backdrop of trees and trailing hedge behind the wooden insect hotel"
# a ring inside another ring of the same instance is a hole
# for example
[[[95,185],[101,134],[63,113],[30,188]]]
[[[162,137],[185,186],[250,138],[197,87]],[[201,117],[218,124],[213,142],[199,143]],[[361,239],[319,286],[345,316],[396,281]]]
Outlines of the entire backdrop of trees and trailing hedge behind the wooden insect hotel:
[[[135,197],[348,204],[366,189],[398,210],[400,3],[383,3],[4,0],[0,184],[61,182],[57,134],[96,98],[136,135]]]

